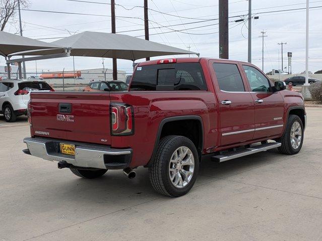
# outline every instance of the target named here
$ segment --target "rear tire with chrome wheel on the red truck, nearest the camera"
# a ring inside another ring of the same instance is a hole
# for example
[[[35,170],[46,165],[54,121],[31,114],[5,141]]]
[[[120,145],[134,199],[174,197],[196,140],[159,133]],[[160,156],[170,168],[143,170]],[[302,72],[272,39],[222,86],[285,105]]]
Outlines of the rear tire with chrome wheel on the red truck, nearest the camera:
[[[149,177],[159,193],[179,197],[194,186],[199,170],[199,156],[194,143],[182,136],[161,139]]]

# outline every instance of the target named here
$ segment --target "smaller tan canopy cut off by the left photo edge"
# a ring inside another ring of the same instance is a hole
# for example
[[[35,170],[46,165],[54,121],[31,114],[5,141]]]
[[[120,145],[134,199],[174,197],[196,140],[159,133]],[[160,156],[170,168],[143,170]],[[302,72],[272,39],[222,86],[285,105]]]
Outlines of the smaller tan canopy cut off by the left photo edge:
[[[34,40],[22,37],[15,34],[0,31],[0,54],[7,57],[21,51],[39,50],[39,49],[54,49],[61,48],[52,43],[46,43],[39,40]],[[59,51],[62,51],[61,49]]]

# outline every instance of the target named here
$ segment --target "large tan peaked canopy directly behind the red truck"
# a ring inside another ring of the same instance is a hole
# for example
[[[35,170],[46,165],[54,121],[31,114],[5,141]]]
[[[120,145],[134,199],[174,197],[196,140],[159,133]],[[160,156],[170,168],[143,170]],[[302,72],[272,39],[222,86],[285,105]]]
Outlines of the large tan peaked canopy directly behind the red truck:
[[[117,58],[133,61],[146,57],[162,55],[199,55],[195,52],[155,43],[152,41],[147,41],[128,35],[89,31],[54,41],[51,44],[60,46],[63,49],[28,51],[24,52],[23,54],[51,55],[65,53],[66,50],[69,50],[71,56]],[[22,53],[19,53],[19,55],[21,54]]]

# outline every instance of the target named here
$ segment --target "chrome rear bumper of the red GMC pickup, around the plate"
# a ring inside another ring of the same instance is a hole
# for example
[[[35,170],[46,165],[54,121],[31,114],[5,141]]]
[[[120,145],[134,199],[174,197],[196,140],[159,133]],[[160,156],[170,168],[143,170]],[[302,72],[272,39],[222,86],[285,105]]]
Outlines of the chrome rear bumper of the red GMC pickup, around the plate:
[[[29,152],[32,156],[40,157],[48,161],[66,161],[78,167],[90,167],[107,169],[104,163],[108,156],[132,155],[132,149],[113,149],[97,145],[79,144],[75,145],[75,156],[58,153],[55,149],[55,143],[75,144],[68,141],[50,140],[43,138],[25,138]],[[107,156],[107,157],[106,157]]]

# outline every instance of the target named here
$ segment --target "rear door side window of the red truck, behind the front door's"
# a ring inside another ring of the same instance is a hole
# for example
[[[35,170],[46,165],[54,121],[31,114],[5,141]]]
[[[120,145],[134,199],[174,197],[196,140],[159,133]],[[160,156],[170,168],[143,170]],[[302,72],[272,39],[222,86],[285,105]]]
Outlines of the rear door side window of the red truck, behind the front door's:
[[[213,68],[217,76],[220,90],[229,92],[245,91],[237,65],[213,63]]]

